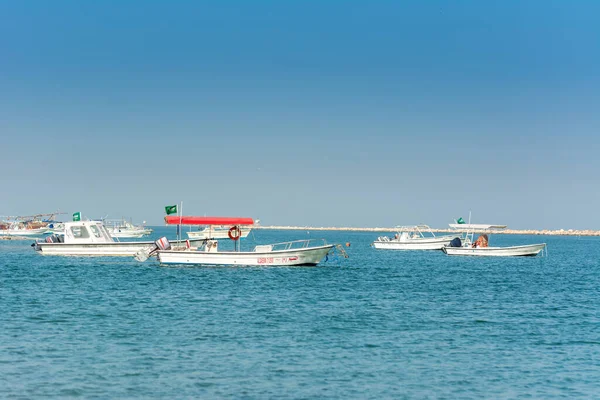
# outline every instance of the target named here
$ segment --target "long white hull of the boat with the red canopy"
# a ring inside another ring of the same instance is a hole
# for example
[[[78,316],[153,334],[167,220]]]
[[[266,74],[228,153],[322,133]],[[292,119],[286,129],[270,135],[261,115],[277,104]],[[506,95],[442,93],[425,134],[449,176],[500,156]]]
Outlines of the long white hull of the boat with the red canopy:
[[[276,251],[158,251],[161,264],[222,265],[222,266],[297,266],[317,265],[327,256],[333,245],[276,250]]]

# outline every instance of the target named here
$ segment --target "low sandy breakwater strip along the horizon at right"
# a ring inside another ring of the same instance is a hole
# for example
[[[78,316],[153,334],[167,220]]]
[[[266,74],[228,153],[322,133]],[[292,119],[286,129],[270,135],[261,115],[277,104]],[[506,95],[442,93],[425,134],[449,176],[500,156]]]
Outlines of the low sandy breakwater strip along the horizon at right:
[[[344,227],[314,227],[314,226],[255,226],[254,229],[265,230],[293,230],[293,231],[349,231],[349,232],[397,232],[396,228],[344,228]],[[466,230],[460,229],[437,229],[431,228],[432,232],[439,233],[464,233]],[[478,231],[475,231],[478,233]],[[507,234],[507,235],[548,235],[548,236],[600,236],[600,231],[591,229],[500,229],[488,230],[485,233]]]

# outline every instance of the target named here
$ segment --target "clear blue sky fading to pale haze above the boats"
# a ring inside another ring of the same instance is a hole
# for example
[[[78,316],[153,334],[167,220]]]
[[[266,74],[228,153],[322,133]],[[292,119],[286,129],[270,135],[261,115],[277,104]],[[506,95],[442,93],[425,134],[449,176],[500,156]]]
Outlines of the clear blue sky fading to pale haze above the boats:
[[[600,229],[599,15],[0,2],[0,214]]]

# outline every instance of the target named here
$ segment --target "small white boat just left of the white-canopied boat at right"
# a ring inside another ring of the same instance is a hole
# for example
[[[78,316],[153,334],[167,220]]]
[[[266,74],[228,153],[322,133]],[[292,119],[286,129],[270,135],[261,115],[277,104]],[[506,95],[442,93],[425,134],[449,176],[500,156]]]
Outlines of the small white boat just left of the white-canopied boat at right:
[[[394,237],[380,236],[373,242],[373,247],[386,250],[441,250],[452,239],[460,237],[435,236],[427,225],[397,226],[396,229],[398,233]]]

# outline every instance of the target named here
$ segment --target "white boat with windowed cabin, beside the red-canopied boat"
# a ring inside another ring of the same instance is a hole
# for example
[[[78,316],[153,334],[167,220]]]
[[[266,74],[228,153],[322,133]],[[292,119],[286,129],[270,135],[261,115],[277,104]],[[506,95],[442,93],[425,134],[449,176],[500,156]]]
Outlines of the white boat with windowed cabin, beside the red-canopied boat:
[[[201,241],[176,240],[174,246],[185,248]],[[65,222],[63,235],[52,235],[32,244],[42,255],[62,256],[133,256],[138,251],[154,249],[154,241],[115,241],[102,221]]]

